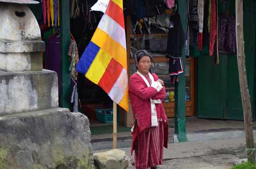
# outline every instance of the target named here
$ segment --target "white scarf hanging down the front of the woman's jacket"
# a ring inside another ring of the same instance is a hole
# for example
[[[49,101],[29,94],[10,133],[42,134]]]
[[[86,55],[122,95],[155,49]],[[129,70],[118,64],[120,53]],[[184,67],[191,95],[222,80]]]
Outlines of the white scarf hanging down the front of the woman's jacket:
[[[148,83],[146,78],[141,73],[139,73],[139,71],[137,71],[137,74],[144,80],[147,87],[150,87],[150,83]],[[148,72],[148,76],[150,77],[150,80],[151,80],[151,83],[152,83],[151,86],[154,86],[154,82],[155,82],[154,77],[149,72]],[[150,98],[150,103],[151,103],[151,126],[152,127],[157,127],[158,126],[158,120],[157,120],[157,110],[156,110],[156,105],[155,104],[161,103],[161,100],[153,100],[153,99]]]

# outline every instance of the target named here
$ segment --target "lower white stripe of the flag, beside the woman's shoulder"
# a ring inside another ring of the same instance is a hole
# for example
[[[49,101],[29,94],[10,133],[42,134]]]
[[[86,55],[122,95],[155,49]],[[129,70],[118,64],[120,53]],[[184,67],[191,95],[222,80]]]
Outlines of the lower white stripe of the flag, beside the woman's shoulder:
[[[110,98],[117,104],[123,99],[123,95],[128,87],[127,70],[122,69],[121,74],[117,78],[115,84],[109,92]]]

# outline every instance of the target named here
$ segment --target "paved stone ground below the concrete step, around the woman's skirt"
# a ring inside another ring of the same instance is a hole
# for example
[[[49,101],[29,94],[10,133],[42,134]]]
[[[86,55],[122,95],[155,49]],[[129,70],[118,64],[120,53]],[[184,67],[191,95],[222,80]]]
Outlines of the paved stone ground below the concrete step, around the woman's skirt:
[[[254,138],[254,140],[256,137]],[[121,148],[134,163],[131,148]],[[160,169],[227,169],[245,158],[245,138],[170,143]],[[104,152],[100,150],[95,152]],[[134,167],[133,167],[134,168]]]

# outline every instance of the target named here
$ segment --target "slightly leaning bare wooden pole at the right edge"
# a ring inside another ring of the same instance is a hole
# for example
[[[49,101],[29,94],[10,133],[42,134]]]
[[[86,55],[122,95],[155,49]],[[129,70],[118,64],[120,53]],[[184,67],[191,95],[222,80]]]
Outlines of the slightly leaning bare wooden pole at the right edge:
[[[240,92],[244,112],[244,126],[246,136],[246,153],[248,162],[255,163],[254,140],[251,122],[250,94],[246,76],[244,30],[243,30],[243,0],[236,0],[236,33],[237,33],[237,59]]]

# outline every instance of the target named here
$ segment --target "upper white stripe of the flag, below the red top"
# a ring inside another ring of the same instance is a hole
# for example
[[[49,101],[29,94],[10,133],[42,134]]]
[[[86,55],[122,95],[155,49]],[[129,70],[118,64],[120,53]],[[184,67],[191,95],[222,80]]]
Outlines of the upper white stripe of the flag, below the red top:
[[[125,30],[115,20],[104,14],[99,22],[98,28],[112,37],[126,50]]]

